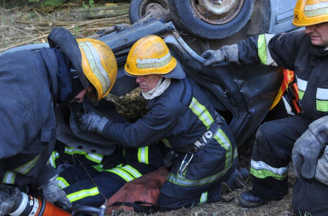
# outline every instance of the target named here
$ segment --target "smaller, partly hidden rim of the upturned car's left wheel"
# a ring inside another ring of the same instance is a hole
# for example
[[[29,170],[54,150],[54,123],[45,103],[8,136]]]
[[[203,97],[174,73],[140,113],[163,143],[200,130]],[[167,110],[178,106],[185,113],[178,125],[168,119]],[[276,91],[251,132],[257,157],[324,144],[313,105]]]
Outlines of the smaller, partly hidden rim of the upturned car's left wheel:
[[[167,0],[156,1],[156,0],[146,0],[142,2],[139,10],[139,16],[142,17],[145,14],[158,15],[163,14],[168,9]]]

